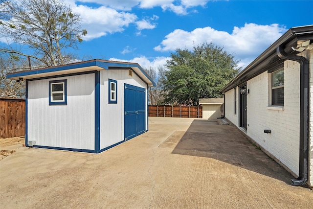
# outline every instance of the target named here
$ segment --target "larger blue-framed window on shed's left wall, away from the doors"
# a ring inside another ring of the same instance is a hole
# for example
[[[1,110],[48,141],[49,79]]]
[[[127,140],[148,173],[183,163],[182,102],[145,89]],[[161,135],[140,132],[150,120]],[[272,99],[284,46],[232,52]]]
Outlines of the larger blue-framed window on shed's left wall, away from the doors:
[[[67,105],[67,80],[49,81],[49,105]]]

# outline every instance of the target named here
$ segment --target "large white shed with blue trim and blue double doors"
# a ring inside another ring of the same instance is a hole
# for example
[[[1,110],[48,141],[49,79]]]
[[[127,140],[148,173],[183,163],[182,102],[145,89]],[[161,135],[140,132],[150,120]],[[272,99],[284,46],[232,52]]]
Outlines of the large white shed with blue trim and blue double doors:
[[[137,63],[89,60],[7,78],[26,82],[26,146],[100,153],[148,131],[155,83]]]

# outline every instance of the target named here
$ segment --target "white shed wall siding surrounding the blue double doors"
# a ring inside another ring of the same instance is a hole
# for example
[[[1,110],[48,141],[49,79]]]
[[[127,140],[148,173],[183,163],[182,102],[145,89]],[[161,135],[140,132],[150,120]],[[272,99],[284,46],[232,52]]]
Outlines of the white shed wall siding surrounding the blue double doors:
[[[117,104],[109,104],[108,80],[117,81]],[[128,75],[128,70],[100,71],[100,149],[124,140],[124,84],[130,84],[147,89],[135,73]],[[148,91],[146,91],[146,107],[148,107]],[[146,118],[148,111],[146,110]],[[146,119],[146,130],[148,130]]]

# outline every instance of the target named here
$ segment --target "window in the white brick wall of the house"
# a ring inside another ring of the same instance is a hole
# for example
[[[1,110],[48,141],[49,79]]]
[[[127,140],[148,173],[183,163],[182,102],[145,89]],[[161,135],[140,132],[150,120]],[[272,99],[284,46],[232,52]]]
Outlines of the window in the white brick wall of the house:
[[[284,106],[284,70],[271,73],[271,105]]]

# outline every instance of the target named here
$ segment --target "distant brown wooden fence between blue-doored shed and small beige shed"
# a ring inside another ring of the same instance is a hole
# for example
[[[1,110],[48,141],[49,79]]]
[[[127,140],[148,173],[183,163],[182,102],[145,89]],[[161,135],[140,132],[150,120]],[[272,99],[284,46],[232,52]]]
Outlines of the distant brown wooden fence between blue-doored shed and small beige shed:
[[[149,116],[202,118],[202,106],[149,105]]]

